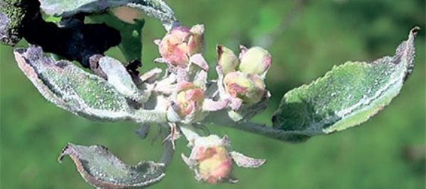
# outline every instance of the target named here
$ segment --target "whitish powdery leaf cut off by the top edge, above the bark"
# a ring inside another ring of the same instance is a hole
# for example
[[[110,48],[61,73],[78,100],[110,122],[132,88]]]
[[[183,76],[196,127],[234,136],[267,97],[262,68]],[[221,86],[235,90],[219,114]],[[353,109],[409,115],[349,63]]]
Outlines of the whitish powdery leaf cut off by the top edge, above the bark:
[[[129,6],[138,8],[148,16],[157,18],[170,30],[178,20],[175,13],[162,0],[39,0],[40,8],[48,15],[71,17],[79,13],[92,15],[102,13],[109,8]]]

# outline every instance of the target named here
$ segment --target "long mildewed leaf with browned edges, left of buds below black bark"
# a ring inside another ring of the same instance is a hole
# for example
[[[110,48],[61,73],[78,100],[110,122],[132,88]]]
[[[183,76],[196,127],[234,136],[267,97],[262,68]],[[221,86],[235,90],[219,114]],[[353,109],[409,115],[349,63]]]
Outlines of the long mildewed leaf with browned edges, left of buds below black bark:
[[[51,103],[77,115],[97,120],[131,118],[126,98],[99,76],[68,61],[54,62],[40,47],[14,51],[16,62]]]

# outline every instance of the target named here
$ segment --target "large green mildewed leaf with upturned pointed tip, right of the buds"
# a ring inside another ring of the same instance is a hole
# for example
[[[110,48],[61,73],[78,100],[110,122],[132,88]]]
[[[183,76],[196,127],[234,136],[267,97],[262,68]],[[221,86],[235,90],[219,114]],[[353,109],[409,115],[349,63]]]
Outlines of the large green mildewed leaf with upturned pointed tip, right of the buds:
[[[273,127],[289,134],[285,140],[301,141],[366,122],[398,95],[414,67],[414,38],[410,31],[394,57],[374,62],[346,62],[311,84],[285,93],[273,115]]]

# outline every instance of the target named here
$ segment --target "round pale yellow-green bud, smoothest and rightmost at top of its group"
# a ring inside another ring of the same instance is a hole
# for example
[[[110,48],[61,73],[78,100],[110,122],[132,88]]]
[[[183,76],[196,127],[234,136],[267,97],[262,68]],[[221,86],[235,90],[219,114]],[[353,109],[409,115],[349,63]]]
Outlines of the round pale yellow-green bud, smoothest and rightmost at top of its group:
[[[239,70],[246,74],[263,75],[271,67],[271,54],[261,47],[251,47],[241,56]]]

